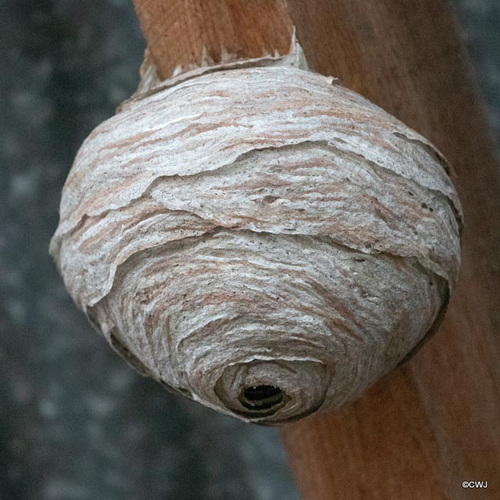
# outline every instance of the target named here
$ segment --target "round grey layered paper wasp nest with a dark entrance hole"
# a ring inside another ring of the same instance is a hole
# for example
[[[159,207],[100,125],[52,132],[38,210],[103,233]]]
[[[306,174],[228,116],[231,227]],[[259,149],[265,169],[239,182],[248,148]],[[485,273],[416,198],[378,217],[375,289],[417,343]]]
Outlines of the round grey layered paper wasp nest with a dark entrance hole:
[[[51,252],[138,371],[278,424],[352,400],[436,328],[461,208],[426,139],[259,61],[143,85],[97,127]]]

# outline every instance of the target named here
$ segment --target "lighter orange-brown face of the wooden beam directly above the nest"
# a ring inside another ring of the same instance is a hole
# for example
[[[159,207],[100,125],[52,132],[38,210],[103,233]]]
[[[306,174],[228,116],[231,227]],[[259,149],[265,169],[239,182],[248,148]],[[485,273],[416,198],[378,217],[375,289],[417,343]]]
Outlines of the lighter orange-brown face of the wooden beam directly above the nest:
[[[134,0],[162,78],[178,66],[215,63],[223,52],[240,59],[264,51],[287,54],[292,24],[283,0]]]

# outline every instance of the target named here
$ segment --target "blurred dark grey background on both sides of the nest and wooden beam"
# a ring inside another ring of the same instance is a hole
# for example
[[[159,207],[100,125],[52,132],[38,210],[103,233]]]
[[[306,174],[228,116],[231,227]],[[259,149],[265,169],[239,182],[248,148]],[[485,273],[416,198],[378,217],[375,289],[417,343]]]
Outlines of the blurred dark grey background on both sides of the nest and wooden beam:
[[[500,1],[452,3],[498,139]],[[293,500],[276,430],[136,375],[48,256],[75,153],[143,50],[131,0],[0,0],[0,499]]]

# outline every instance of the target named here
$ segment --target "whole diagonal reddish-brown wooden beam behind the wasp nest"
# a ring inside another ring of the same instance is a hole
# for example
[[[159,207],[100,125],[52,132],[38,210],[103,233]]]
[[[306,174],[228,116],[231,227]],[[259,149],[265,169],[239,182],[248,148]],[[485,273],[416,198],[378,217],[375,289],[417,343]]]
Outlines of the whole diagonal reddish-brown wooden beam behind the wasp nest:
[[[284,39],[272,36],[293,23],[314,70],[339,77],[451,161],[466,230],[461,278],[440,332],[358,402],[287,427],[283,438],[305,499],[498,498],[500,171],[448,4],[286,0],[285,12],[283,2],[200,1],[199,14],[196,2],[135,3],[163,75],[199,61],[206,40],[214,58],[221,44],[230,51],[241,44],[241,57],[260,55],[262,40],[283,50]],[[231,45],[227,22],[213,19],[216,6],[231,8],[233,19],[273,21],[235,21]],[[463,489],[464,480],[488,481],[488,489]]]

